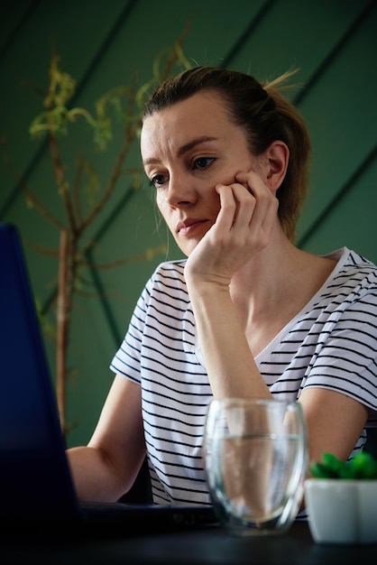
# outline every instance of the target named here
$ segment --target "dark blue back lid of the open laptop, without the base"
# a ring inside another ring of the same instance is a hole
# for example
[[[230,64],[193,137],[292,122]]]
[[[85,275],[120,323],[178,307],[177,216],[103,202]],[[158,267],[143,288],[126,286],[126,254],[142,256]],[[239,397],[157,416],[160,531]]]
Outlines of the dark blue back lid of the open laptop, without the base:
[[[17,228],[0,224],[0,514],[78,514]]]

